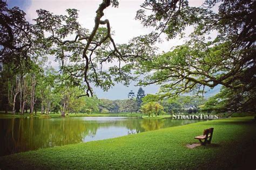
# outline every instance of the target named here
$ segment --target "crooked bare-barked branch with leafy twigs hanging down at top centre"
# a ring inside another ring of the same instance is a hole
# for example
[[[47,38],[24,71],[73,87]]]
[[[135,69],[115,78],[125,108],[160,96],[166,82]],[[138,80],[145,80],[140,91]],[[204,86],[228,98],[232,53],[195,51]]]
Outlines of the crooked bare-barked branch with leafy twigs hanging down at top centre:
[[[131,76],[130,60],[154,53],[150,45],[139,43],[154,37],[153,34],[134,38],[129,44],[120,45],[114,42],[109,20],[102,19],[104,10],[109,8],[111,3],[114,7],[118,6],[117,1],[110,0],[103,0],[99,4],[95,26],[91,31],[78,23],[76,9],[66,10],[68,15],[54,15],[46,10],[37,10],[36,26],[45,31],[42,41],[51,44],[49,54],[56,56],[62,64],[62,70],[69,73],[70,80],[76,81],[78,77],[83,77],[87,96],[93,95],[91,84],[103,90],[108,90],[114,82],[129,84],[129,81],[134,79]],[[111,62],[117,64],[107,66],[107,63]],[[122,62],[127,64],[122,67]]]

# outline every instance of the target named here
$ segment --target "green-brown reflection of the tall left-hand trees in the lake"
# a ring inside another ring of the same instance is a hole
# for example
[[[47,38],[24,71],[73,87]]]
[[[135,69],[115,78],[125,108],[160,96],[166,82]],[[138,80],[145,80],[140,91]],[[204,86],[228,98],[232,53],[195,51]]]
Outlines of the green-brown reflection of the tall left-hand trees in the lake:
[[[82,142],[94,135],[99,123],[69,118],[12,118],[0,120],[0,155]]]

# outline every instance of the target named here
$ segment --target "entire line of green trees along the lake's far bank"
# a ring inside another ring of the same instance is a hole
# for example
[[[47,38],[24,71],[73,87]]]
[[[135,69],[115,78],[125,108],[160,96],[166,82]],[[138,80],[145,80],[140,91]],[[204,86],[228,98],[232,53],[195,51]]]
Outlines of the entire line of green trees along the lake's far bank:
[[[59,74],[52,67],[47,66],[47,58],[33,64],[32,69],[18,69],[5,66],[1,73],[1,102],[0,110],[6,113],[31,115],[39,112],[41,115],[69,113],[119,113],[139,112],[145,115],[184,112],[191,106],[198,107],[204,99],[191,96],[180,96],[174,100],[161,100],[153,103],[151,95],[145,94],[143,88],[139,88],[137,94],[132,90],[125,100],[99,99],[97,96],[83,96],[85,88],[82,83],[72,84],[68,75]],[[79,85],[79,86],[78,86]],[[81,96],[82,95],[82,96]],[[81,96],[81,97],[79,97]],[[153,105],[152,105],[153,104]]]

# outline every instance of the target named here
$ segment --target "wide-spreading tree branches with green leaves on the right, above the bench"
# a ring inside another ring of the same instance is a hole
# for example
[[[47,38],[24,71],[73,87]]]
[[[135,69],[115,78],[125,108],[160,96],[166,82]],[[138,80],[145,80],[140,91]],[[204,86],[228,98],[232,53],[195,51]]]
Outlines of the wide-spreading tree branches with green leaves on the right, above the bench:
[[[255,5],[254,1],[205,1],[200,7],[191,7],[188,1],[145,2],[137,12],[143,25],[155,27],[168,39],[183,36],[187,26],[193,31],[184,45],[150,60],[137,60],[134,68],[145,76],[139,84],[161,84],[161,97],[204,93],[205,87],[221,84],[232,91],[230,101],[236,96],[244,101],[243,106],[227,109],[246,111],[246,105],[254,109]],[[212,11],[215,6],[217,12]],[[211,37],[212,32],[217,36]]]

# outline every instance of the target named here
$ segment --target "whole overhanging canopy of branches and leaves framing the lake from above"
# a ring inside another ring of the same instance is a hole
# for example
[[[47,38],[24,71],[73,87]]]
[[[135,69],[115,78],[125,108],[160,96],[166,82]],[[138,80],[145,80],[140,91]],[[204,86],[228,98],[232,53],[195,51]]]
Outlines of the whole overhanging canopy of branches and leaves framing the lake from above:
[[[103,0],[90,30],[78,22],[76,9],[67,9],[66,15],[39,9],[35,24],[31,24],[25,19],[24,11],[17,7],[9,9],[5,2],[0,2],[0,59],[3,67],[11,70],[3,72],[2,84],[12,94],[9,98],[4,94],[3,100],[8,98],[13,111],[17,110],[17,95],[21,103],[30,101],[33,111],[37,88],[49,94],[58,89],[47,83],[40,87],[36,81],[36,76],[45,76],[42,70],[41,73],[35,70],[39,70],[39,62],[46,55],[55,56],[60,63],[54,74],[59,87],[82,89],[76,93],[77,97],[93,96],[92,86],[109,90],[115,83],[128,85],[133,80],[139,82],[138,86],[160,84],[159,93],[154,96],[159,101],[181,94],[204,94],[207,89],[221,85],[220,94],[211,98],[217,101],[215,109],[255,110],[254,1],[206,0],[201,6],[192,6],[186,0],[145,1],[136,19],[154,31],[134,37],[126,44],[114,41],[110,21],[102,19],[106,8],[111,5],[117,8],[118,4],[118,1]],[[161,34],[167,40],[182,38],[187,29],[192,32],[183,45],[158,53],[156,42],[161,42]],[[107,65],[112,62],[117,64]],[[24,84],[26,79],[30,80]],[[69,94],[69,90],[60,95]],[[25,91],[32,94],[29,100]],[[63,98],[68,96],[71,97]],[[64,104],[63,98],[57,103]],[[137,99],[139,106],[141,98]],[[206,108],[211,107],[206,104]]]

